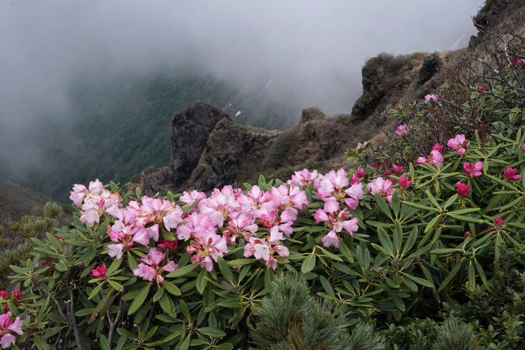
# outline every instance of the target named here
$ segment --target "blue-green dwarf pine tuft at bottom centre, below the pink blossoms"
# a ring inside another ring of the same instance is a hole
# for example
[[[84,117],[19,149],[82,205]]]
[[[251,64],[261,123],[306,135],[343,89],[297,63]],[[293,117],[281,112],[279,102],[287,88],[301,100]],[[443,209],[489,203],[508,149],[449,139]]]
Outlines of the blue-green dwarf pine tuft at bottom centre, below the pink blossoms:
[[[284,273],[272,282],[273,290],[253,309],[258,316],[250,333],[257,348],[350,349],[384,348],[384,340],[370,324],[359,323],[348,334],[348,320],[329,299],[313,298],[304,277]]]

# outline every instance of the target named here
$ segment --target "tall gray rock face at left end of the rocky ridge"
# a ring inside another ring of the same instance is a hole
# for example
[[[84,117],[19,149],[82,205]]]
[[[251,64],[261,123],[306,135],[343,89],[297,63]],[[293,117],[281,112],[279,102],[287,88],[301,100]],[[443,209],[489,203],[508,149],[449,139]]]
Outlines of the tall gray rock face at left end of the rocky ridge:
[[[202,101],[190,103],[173,116],[170,129],[173,148],[168,172],[175,187],[191,176],[209,133],[221,119],[231,120],[228,113]]]

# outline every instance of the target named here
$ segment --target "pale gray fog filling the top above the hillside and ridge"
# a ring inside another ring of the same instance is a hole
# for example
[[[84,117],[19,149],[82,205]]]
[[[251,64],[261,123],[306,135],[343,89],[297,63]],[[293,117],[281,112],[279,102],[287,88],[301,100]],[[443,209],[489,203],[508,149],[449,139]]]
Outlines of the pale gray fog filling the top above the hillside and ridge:
[[[380,52],[464,47],[481,0],[12,1],[0,3],[0,153],[40,158],[36,121],[67,122],[80,76],[198,62],[239,87],[349,113],[361,67]],[[175,111],[174,111],[175,112]],[[299,119],[300,112],[297,115]],[[64,119],[64,120],[62,120]],[[73,135],[74,136],[74,135]],[[13,159],[14,162],[14,159]]]

